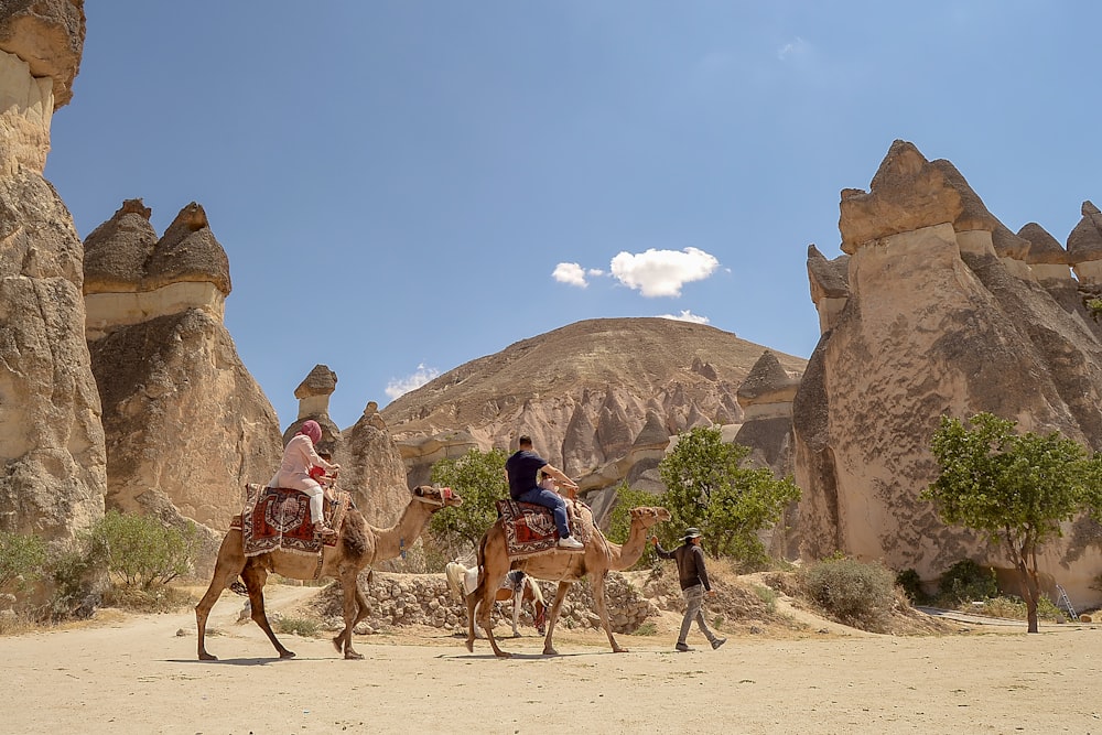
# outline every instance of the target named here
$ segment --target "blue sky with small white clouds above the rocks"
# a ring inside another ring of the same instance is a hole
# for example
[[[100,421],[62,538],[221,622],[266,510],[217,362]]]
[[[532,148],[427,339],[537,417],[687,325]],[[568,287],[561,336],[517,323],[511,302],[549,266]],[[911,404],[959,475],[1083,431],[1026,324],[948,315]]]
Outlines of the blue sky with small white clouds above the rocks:
[[[89,2],[46,177],[85,237],[195,201],[279,412],[331,415],[580,320],[808,357],[810,242],[892,141],[1065,242],[1102,204],[1094,2]]]

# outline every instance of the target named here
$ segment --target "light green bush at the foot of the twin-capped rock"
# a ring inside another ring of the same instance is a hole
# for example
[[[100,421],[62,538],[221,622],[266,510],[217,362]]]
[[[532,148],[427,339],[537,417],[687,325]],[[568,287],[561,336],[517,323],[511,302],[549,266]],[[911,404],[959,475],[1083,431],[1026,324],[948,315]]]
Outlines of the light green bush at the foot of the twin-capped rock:
[[[155,518],[109,510],[90,532],[105,550],[108,572],[131,587],[149,590],[186,574],[198,544],[194,523],[181,531]]]

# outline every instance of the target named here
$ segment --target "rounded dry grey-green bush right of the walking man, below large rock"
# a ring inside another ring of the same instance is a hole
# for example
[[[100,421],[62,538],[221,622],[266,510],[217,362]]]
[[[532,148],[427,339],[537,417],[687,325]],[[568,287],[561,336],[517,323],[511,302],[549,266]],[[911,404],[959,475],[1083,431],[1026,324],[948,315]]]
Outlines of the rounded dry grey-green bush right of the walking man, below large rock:
[[[799,572],[806,594],[839,623],[875,625],[896,604],[895,577],[883,564],[825,559]]]

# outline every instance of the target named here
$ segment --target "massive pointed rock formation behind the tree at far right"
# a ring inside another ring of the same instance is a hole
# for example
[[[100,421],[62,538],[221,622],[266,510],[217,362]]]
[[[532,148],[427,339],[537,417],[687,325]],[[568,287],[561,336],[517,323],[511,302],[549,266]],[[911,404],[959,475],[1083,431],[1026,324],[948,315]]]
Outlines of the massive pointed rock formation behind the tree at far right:
[[[1039,226],[1011,233],[951,163],[910,143],[892,144],[868,192],[844,190],[840,212],[849,296],[792,406],[802,551],[925,580],[963,558],[1006,566],[919,498],[938,474],[930,437],[942,415],[988,411],[1102,448],[1098,325]],[[1084,205],[1069,238],[1065,262],[1082,282],[1102,258],[1098,217]],[[815,293],[825,279],[811,256]],[[1102,602],[1091,588],[1102,555],[1077,529],[1046,548],[1042,584]]]

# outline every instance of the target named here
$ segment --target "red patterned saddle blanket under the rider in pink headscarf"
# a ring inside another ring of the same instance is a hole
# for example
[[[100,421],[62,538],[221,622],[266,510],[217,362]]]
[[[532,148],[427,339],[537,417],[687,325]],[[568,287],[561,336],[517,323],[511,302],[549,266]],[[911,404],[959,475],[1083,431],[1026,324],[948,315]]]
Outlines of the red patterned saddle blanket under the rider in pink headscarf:
[[[246,556],[257,556],[272,551],[295,554],[318,554],[324,545],[336,545],[337,537],[324,541],[314,531],[310,520],[310,496],[287,487],[264,487],[256,483],[245,486],[245,509],[234,516],[229,527],[241,530]],[[352,496],[337,493],[336,500],[325,500],[325,523],[341,528]]]

